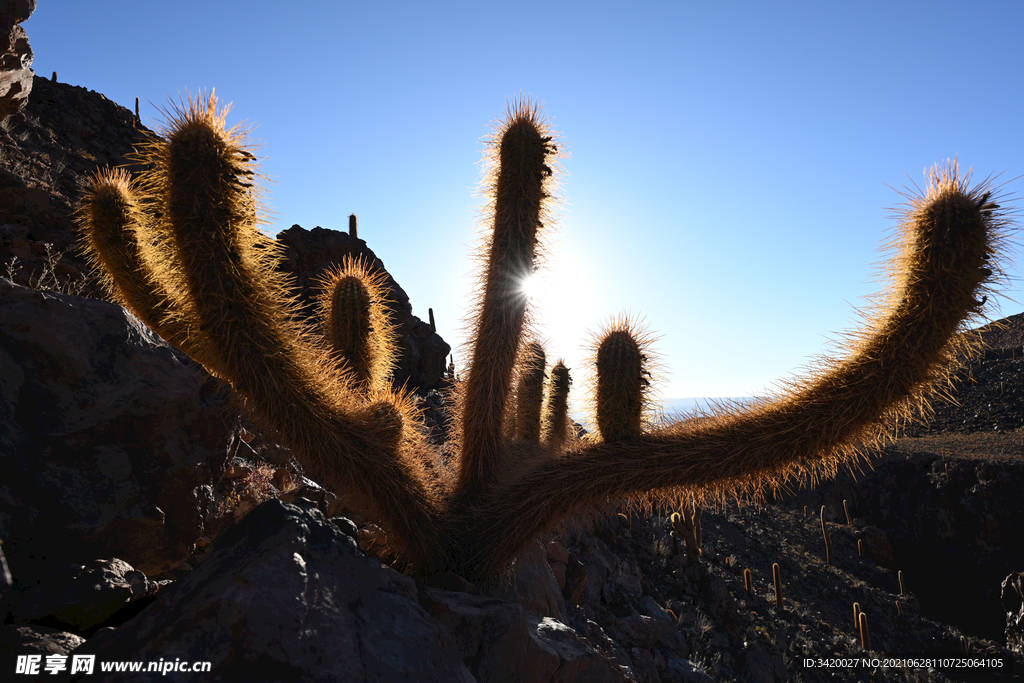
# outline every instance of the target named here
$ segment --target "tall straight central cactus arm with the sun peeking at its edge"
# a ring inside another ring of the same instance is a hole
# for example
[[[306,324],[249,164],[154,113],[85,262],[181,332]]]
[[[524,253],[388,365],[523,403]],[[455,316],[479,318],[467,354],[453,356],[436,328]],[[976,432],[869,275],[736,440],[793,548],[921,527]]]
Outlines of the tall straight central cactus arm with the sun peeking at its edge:
[[[471,318],[473,346],[458,410],[460,469],[456,499],[469,501],[494,484],[502,468],[503,434],[519,342],[527,325],[522,285],[534,273],[538,239],[552,200],[557,156],[552,136],[529,102],[512,108],[498,127],[486,180],[492,229],[484,246],[480,298]]]

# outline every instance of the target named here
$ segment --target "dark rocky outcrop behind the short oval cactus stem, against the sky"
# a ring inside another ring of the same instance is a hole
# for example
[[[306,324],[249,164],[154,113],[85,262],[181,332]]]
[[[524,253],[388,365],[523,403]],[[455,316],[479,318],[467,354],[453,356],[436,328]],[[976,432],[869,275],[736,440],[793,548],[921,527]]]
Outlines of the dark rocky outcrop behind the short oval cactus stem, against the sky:
[[[279,270],[294,276],[303,304],[303,315],[310,321],[318,319],[316,299],[319,291],[316,281],[328,268],[340,264],[345,256],[362,257],[367,263],[387,273],[384,263],[367,247],[367,243],[347,232],[318,226],[306,230],[300,225],[293,225],[279,232],[278,241],[286,248]],[[437,333],[431,332],[429,324],[413,315],[409,295],[390,273],[387,273],[387,284],[392,300],[391,313],[398,325],[399,360],[394,372],[394,384],[401,386],[408,381],[411,387],[424,392],[440,387],[452,347]]]

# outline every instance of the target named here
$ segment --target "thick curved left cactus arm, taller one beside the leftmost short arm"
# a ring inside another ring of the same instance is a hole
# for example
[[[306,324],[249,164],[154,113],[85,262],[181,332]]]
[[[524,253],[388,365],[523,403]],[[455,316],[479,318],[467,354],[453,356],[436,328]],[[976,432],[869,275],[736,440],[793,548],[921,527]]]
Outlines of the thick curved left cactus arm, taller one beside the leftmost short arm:
[[[163,178],[160,206],[193,304],[200,358],[276,430],[310,474],[353,490],[410,558],[430,557],[437,490],[408,401],[360,399],[349,376],[313,346],[274,273],[274,242],[253,210],[252,155],[226,129],[214,96],[175,111],[147,156]]]

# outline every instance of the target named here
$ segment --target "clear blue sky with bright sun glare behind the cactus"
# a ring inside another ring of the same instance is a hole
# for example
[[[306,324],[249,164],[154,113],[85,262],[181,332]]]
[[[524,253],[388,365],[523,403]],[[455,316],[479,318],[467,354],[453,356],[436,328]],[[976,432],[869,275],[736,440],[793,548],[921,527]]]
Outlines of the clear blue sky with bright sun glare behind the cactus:
[[[762,393],[853,326],[902,201],[887,184],[950,157],[1024,174],[1022,26],[1016,1],[820,0],[40,0],[25,24],[37,74],[138,96],[150,123],[216,87],[258,125],[271,233],[358,214],[457,349],[481,139],[532,95],[571,155],[549,357],[582,380],[586,330],[643,315],[668,397]]]

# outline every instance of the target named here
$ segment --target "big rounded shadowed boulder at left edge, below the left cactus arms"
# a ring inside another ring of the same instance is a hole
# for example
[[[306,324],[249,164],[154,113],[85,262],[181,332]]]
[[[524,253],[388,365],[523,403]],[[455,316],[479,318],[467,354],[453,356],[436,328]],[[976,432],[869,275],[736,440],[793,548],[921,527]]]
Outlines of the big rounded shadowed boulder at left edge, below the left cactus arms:
[[[219,384],[120,306],[0,278],[0,538],[30,557],[188,557],[231,445]]]

